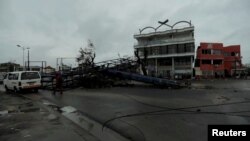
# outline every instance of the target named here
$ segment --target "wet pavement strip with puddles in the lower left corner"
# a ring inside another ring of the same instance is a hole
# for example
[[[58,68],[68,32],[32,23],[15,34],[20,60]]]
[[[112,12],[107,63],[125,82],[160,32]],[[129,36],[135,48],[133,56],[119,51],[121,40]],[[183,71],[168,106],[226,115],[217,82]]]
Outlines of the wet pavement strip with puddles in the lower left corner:
[[[51,108],[4,92],[0,92],[0,140],[97,141]]]

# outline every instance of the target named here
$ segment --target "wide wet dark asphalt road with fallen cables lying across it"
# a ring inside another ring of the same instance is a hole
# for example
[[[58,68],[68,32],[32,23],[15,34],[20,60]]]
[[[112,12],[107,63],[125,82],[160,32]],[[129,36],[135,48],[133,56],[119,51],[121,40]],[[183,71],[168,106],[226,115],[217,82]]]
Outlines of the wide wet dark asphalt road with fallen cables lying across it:
[[[201,141],[207,140],[209,124],[250,123],[249,87],[249,80],[203,80],[184,89],[78,88],[63,95],[41,90],[26,96],[74,107],[98,123],[92,125],[102,128],[98,134],[112,129],[136,141]]]

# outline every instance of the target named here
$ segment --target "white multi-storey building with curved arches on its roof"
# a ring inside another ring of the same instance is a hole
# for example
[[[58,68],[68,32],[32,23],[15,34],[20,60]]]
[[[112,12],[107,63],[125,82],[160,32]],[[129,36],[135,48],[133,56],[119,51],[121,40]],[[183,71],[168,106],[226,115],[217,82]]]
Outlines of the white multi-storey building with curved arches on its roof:
[[[193,74],[195,54],[194,26],[180,21],[172,26],[163,22],[157,28],[145,27],[135,34],[134,49],[142,59],[146,58],[148,75],[164,78],[190,78]],[[177,25],[184,24],[181,28]],[[167,30],[160,31],[162,25]],[[146,29],[153,32],[144,33]],[[147,54],[145,57],[145,53]],[[144,57],[143,57],[144,56]]]

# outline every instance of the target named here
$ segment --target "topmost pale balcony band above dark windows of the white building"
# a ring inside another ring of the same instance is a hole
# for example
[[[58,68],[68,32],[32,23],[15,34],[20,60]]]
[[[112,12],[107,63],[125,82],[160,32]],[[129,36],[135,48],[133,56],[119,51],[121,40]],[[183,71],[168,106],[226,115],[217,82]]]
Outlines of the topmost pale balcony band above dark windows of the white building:
[[[139,42],[139,43],[134,44],[134,48],[165,46],[165,45],[184,44],[184,43],[194,43],[194,38],[193,37],[173,38],[173,39],[168,39],[168,40]]]

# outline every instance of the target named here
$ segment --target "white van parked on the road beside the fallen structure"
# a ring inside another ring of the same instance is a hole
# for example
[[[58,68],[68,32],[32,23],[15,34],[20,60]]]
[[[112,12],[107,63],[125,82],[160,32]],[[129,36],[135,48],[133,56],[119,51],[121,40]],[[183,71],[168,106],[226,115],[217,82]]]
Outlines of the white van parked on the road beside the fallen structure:
[[[3,85],[6,91],[32,89],[37,92],[41,87],[41,76],[37,71],[9,72],[4,77]]]

